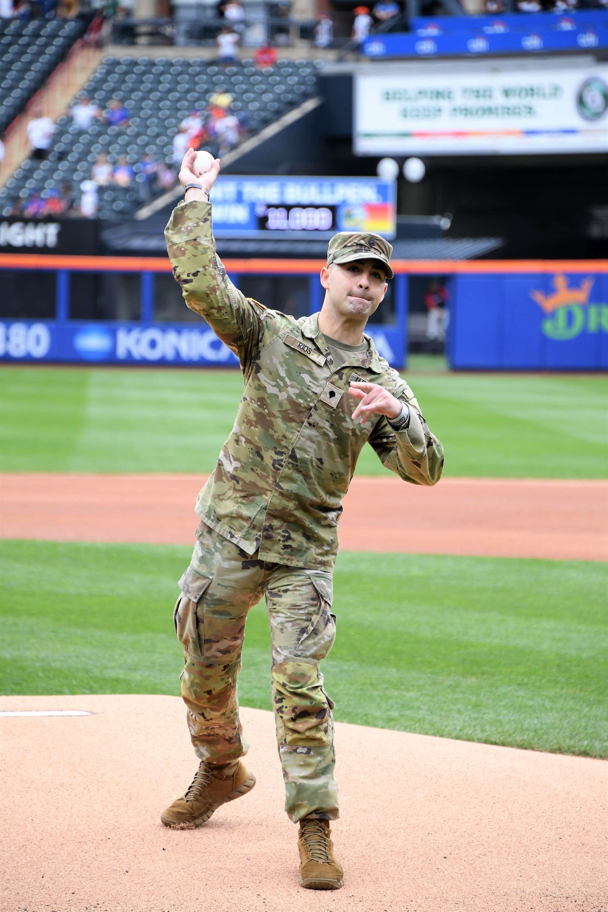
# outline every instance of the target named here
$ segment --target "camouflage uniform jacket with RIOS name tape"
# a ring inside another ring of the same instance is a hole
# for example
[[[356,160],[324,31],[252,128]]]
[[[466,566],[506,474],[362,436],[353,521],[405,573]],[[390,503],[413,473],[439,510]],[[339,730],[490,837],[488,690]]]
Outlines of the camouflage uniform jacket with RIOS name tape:
[[[404,481],[427,485],[438,482],[443,448],[369,337],[368,351],[334,364],[317,314],[296,320],[232,285],[215,252],[211,203],[180,202],[165,236],[186,304],[237,355],[244,377],[232,433],[196,512],[247,554],[259,548],[260,560],[331,570],[342,498],[364,444]],[[408,429],[392,430],[381,415],[355,423],[352,379],[407,402]]]

